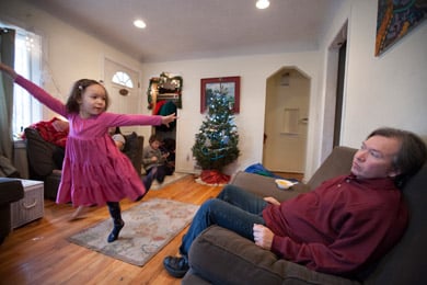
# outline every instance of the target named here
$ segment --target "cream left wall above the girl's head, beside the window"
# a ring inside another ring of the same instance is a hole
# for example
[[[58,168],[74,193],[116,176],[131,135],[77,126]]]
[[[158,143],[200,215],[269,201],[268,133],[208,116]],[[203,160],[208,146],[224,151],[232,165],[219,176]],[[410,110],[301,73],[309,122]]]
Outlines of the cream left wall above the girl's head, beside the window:
[[[22,0],[1,1],[0,20],[42,36],[42,86],[62,102],[67,101],[71,86],[77,80],[104,80],[105,57],[140,70],[138,60]],[[44,109],[45,119],[54,115]]]

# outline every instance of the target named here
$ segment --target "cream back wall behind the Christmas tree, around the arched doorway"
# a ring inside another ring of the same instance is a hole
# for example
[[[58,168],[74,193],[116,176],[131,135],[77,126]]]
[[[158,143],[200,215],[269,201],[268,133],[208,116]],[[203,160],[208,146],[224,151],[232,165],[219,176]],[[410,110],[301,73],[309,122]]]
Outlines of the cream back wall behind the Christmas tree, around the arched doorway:
[[[262,162],[266,81],[284,66],[295,66],[311,78],[310,94],[316,96],[320,73],[319,53],[292,53],[230,57],[204,60],[170,61],[143,65],[142,82],[148,84],[152,76],[162,71],[183,77],[183,109],[178,110],[180,121],[176,134],[176,170],[193,172],[194,161],[191,148],[195,134],[205,115],[200,114],[200,79],[217,77],[241,77],[240,114],[235,116],[240,135],[241,157],[227,170],[229,174],[243,170],[250,164]]]

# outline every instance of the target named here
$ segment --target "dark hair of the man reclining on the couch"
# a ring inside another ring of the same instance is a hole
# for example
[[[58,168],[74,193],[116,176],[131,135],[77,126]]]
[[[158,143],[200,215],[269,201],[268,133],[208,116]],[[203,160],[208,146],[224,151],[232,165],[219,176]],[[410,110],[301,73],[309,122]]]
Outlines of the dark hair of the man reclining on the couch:
[[[394,182],[402,187],[404,183],[414,175],[427,160],[426,144],[417,135],[391,127],[383,127],[373,130],[368,138],[372,136],[382,136],[396,138],[401,141],[401,149],[393,158],[393,168],[401,173],[395,176]]]

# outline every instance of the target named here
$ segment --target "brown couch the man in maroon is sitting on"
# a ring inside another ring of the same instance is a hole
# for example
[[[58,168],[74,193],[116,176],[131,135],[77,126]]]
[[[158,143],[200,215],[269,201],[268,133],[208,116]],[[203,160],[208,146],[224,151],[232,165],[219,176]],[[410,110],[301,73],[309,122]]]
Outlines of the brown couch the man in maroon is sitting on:
[[[337,147],[307,184],[279,190],[273,178],[239,172],[231,184],[261,196],[286,200],[315,187],[330,178],[347,174],[356,149]],[[188,252],[189,271],[182,284],[427,284],[425,215],[427,164],[404,186],[411,210],[408,228],[401,241],[362,278],[349,280],[319,273],[263,250],[239,235],[212,226],[196,238]]]

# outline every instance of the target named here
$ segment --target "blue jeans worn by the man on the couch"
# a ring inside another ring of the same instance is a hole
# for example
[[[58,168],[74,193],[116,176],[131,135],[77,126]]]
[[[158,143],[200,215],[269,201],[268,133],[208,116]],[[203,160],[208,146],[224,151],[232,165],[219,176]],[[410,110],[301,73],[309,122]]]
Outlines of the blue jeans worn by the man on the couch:
[[[234,185],[227,185],[217,198],[206,201],[197,210],[187,233],[183,237],[180,253],[187,256],[193,240],[211,225],[232,230],[254,240],[254,224],[265,225],[263,209],[268,205],[256,196]]]

